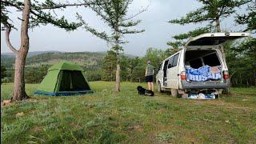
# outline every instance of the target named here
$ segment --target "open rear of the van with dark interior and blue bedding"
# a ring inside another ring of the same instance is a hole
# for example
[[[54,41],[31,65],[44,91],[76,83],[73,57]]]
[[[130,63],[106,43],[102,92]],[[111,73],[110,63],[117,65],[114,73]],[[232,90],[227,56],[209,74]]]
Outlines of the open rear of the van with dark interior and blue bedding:
[[[216,50],[188,50],[185,65],[188,81],[218,81],[222,78],[222,66]]]

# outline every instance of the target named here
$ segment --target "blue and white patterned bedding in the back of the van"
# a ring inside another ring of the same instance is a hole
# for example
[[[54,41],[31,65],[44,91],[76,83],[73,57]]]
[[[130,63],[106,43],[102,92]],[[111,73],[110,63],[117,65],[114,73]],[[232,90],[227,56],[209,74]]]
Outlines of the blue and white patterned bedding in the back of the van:
[[[217,72],[212,73],[210,66],[202,66],[198,69],[186,66],[186,78],[193,82],[205,82],[207,80],[219,80],[222,78],[222,67],[217,66]]]

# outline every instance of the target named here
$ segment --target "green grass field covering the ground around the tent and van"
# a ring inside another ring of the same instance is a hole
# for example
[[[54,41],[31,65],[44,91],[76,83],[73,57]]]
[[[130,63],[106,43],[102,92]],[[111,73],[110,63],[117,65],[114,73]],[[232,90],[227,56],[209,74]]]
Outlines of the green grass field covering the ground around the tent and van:
[[[158,94],[138,96],[136,86],[90,82],[94,94],[32,96],[1,107],[2,143],[256,143],[256,89],[234,88],[216,100]],[[38,85],[26,85],[28,94]],[[1,99],[12,84],[2,84]],[[23,112],[23,116],[16,114]]]

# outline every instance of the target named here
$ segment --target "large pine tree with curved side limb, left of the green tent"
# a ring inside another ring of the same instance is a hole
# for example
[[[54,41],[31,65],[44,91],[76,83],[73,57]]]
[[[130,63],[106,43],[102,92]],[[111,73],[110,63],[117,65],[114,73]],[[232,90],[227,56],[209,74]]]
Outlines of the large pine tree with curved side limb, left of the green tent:
[[[75,30],[82,24],[80,22],[68,22],[66,18],[58,18],[54,16],[54,10],[64,9],[68,6],[89,6],[90,2],[83,3],[54,3],[52,0],[46,0],[45,2],[30,0],[1,0],[1,24],[2,30],[6,30],[6,44],[11,51],[14,52],[15,59],[15,73],[14,73],[14,100],[22,100],[27,98],[25,91],[25,65],[26,55],[30,48],[30,39],[28,30],[35,26],[44,26],[46,24],[52,24],[54,26],[63,28],[65,30]],[[14,48],[10,42],[10,31],[17,29],[10,19],[9,7],[15,8],[18,11],[22,11],[22,26],[21,26],[21,45],[19,49]]]

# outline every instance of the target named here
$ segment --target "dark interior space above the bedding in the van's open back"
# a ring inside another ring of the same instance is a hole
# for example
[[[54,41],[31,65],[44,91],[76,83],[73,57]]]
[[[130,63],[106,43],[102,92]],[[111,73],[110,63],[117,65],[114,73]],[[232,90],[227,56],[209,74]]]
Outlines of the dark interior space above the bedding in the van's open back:
[[[194,69],[202,66],[220,66],[216,50],[188,50],[186,51],[185,65]]]

